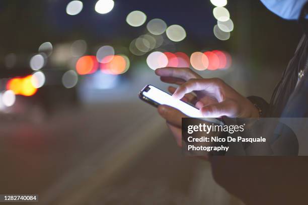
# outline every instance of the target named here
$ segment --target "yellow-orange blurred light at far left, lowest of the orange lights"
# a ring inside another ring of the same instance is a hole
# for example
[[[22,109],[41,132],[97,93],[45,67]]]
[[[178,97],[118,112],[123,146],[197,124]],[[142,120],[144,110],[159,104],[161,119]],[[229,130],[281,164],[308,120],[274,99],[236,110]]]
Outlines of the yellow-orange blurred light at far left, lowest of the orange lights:
[[[37,88],[33,86],[31,79],[32,75],[23,78],[13,78],[8,81],[7,89],[12,90],[15,94],[24,96],[34,95],[37,92]]]

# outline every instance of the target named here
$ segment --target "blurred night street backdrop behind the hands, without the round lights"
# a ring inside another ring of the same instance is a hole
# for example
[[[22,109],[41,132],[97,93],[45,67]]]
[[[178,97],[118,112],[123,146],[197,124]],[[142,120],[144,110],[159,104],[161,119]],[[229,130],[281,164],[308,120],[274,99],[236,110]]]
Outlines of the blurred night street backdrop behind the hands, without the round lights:
[[[46,85],[34,96],[18,96],[9,110],[14,112],[0,112],[0,193],[36,193],[40,204],[242,204],[213,181],[207,162],[181,154],[156,109],[138,99],[145,84],[167,85],[147,66],[148,54],[134,56],[128,47],[153,18],[179,24],[186,39],[165,50],[227,51],[233,60],[229,69],[199,73],[222,78],[244,96],[269,100],[302,35],[299,25],[275,16],[260,1],[228,1],[235,27],[230,39],[220,41],[213,34],[217,21],[209,0],[115,0],[104,15],[95,12],[97,1],[87,0],[76,16],[66,14],[69,2],[0,2],[0,91],[10,77],[33,72],[29,60],[43,42],[54,47],[42,68]],[[147,15],[141,27],[125,21],[135,10]],[[61,76],[74,68],[54,63],[52,56],[79,39],[88,44],[85,55],[114,46],[129,58],[129,70],[112,78],[79,76],[76,87],[64,88]],[[10,53],[17,63],[8,69]],[[111,89],[96,87],[110,81]]]

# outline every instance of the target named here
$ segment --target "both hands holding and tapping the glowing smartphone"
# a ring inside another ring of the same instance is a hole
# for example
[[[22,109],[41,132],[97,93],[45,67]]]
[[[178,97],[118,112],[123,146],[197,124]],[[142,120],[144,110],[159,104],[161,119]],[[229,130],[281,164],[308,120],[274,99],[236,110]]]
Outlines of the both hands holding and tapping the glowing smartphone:
[[[195,105],[205,118],[259,117],[258,110],[246,97],[219,78],[205,79],[189,68],[159,68],[155,73],[161,76],[163,82],[179,85],[178,88],[170,86],[168,90],[175,98]],[[166,105],[159,106],[158,111],[181,146],[181,122],[187,116]]]

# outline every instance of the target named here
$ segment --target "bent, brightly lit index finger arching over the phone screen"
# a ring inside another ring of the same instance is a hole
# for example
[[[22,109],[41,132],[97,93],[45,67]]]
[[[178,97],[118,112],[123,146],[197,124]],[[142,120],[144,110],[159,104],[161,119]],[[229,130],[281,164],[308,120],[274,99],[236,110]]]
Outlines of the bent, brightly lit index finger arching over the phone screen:
[[[223,81],[217,78],[190,79],[184,84],[180,85],[174,92],[173,96],[177,99],[181,99],[186,93],[195,90],[204,90],[211,97],[215,97],[217,101],[220,102],[224,99],[223,85]]]

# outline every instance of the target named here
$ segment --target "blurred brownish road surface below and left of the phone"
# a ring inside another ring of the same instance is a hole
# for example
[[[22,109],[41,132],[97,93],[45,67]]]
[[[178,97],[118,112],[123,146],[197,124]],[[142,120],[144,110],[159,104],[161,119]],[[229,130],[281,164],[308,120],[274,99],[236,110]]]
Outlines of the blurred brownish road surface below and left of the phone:
[[[207,162],[182,155],[156,112],[140,101],[63,110],[41,123],[1,117],[0,193],[66,205],[236,201]]]

